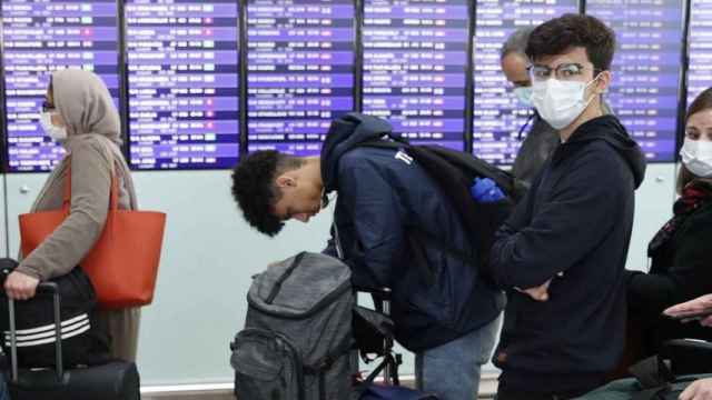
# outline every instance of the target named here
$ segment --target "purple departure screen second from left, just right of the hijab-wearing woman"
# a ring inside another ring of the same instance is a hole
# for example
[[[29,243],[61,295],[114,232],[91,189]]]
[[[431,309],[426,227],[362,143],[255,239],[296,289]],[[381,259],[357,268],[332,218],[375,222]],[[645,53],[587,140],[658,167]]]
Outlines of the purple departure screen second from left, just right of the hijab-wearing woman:
[[[131,167],[233,167],[237,1],[128,0],[125,7]]]

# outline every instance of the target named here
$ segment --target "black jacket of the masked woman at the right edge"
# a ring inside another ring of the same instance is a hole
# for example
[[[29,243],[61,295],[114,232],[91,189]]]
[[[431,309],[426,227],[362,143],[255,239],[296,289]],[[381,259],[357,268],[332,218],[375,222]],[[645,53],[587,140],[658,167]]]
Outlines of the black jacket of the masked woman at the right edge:
[[[712,196],[712,184],[698,187]],[[682,201],[682,200],[679,200]],[[651,251],[650,273],[626,271],[629,311],[644,333],[643,350],[657,353],[669,339],[692,338],[712,341],[712,329],[699,323],[681,323],[662,317],[668,307],[712,293],[712,199],[684,216],[675,232]]]

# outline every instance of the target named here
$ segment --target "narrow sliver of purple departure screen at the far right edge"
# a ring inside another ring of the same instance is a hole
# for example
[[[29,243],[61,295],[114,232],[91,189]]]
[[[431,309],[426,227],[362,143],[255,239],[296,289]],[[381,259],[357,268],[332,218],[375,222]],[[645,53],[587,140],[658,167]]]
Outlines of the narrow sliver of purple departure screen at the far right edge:
[[[712,88],[712,0],[692,0],[688,39],[688,106]]]

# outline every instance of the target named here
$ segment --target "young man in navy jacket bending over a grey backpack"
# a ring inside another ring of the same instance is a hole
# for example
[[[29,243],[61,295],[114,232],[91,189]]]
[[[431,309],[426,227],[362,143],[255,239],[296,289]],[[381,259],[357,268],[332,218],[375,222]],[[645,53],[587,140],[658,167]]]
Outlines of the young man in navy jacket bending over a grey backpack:
[[[389,131],[384,120],[348,114],[332,124],[320,157],[250,154],[235,169],[233,193],[246,220],[274,236],[285,220],[308,222],[324,193],[338,192],[333,242],[340,243],[355,284],[393,290],[395,336],[416,353],[418,387],[438,399],[472,400],[504,294],[473,261],[413,234],[473,248],[449,199],[413,158],[360,146]],[[336,256],[335,247],[327,252]]]

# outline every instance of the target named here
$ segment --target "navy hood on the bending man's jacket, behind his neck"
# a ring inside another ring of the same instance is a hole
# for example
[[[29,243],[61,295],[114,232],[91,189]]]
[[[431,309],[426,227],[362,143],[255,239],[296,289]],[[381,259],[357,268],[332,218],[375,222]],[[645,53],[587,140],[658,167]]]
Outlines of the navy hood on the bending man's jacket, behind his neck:
[[[390,123],[380,118],[349,112],[334,120],[322,147],[322,180],[325,191],[328,193],[336,189],[338,161],[344,153],[360,143],[384,137],[396,140],[400,138],[393,133]]]

